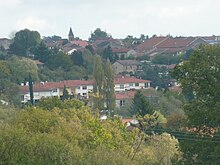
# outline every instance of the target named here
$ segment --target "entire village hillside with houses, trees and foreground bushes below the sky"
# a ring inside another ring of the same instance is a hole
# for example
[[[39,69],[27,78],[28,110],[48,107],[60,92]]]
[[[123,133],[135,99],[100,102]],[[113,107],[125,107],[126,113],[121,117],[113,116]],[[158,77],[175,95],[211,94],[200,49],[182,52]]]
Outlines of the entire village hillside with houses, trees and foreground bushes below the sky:
[[[0,38],[0,164],[219,164],[219,36],[67,34]]]

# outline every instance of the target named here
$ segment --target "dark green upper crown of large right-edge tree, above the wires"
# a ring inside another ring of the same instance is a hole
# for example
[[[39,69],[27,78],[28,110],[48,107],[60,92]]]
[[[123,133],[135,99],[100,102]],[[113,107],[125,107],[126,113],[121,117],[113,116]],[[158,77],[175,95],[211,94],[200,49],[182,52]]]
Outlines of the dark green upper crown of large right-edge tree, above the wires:
[[[194,126],[219,126],[220,48],[201,46],[188,61],[178,65],[173,72],[185,94],[192,100],[184,109]]]

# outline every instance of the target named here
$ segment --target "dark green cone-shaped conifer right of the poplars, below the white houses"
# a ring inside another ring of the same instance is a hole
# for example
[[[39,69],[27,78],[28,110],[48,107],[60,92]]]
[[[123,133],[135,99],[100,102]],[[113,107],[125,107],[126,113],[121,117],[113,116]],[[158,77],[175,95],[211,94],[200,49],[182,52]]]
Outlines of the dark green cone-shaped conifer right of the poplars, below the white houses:
[[[153,107],[150,105],[149,101],[142,94],[140,90],[134,95],[133,103],[131,105],[131,114],[136,116],[144,117],[146,114],[153,114]]]

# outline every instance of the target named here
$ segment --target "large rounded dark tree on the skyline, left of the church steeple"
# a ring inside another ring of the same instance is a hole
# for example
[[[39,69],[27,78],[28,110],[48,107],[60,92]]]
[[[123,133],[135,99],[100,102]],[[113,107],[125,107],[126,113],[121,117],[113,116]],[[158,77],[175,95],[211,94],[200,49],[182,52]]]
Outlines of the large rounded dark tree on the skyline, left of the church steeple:
[[[29,57],[33,53],[33,49],[40,42],[40,33],[37,31],[31,31],[29,29],[20,30],[15,34],[13,42],[10,45],[10,50],[16,55]]]

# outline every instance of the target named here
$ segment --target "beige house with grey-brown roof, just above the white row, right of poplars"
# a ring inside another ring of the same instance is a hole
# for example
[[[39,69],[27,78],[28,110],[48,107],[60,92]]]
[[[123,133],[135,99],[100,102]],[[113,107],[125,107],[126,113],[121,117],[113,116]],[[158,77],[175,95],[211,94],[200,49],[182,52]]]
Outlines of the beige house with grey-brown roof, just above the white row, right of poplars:
[[[122,72],[135,73],[142,70],[142,63],[136,60],[117,60],[112,67],[116,74]]]

